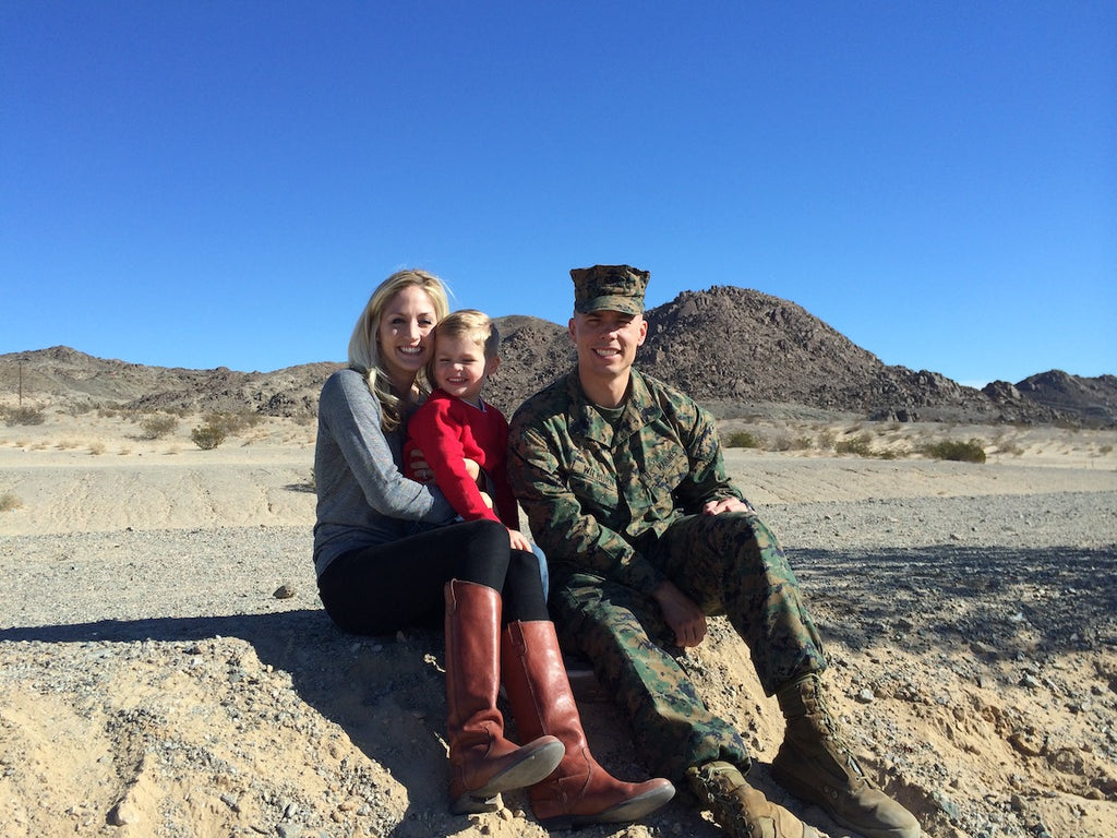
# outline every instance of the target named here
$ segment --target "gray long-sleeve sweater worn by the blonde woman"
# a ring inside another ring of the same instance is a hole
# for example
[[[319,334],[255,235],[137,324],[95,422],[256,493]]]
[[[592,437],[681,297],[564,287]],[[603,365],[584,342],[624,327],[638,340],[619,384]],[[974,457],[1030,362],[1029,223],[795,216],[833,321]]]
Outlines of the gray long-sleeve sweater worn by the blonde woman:
[[[407,428],[385,434],[381,417],[380,401],[355,370],[338,370],[322,388],[314,449],[314,568],[319,577],[343,553],[455,518],[437,488],[403,476]]]

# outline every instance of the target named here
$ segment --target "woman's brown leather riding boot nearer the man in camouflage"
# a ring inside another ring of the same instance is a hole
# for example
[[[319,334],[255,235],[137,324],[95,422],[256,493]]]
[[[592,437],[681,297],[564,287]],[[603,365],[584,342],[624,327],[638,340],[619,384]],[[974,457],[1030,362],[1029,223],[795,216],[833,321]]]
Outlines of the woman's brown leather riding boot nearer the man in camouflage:
[[[675,796],[668,780],[622,782],[593,759],[553,622],[509,622],[500,657],[505,691],[521,736],[552,734],[566,747],[555,772],[528,789],[540,823],[561,829],[637,820]]]

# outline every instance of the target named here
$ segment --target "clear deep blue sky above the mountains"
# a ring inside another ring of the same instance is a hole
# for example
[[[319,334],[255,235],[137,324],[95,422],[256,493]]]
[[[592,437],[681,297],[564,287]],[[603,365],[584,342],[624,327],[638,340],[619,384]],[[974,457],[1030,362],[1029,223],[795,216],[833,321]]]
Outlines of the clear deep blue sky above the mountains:
[[[417,266],[784,297],[978,385],[1117,373],[1117,3],[0,4],[0,353],[342,361]]]

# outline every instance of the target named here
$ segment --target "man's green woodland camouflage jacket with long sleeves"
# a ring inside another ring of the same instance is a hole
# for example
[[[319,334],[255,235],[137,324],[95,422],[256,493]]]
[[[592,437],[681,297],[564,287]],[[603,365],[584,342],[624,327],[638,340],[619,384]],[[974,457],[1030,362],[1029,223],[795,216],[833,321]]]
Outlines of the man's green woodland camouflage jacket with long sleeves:
[[[547,560],[646,593],[665,575],[641,549],[707,501],[744,499],[710,415],[636,370],[614,425],[575,369],[519,407],[508,442],[513,489]]]

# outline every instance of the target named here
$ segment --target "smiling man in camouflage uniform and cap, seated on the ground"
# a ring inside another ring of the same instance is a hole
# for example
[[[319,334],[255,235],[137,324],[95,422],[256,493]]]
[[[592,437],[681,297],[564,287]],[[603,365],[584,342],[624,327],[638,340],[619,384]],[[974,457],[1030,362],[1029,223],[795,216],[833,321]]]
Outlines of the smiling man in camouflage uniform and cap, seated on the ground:
[[[724,613],[748,644],[787,732],[773,774],[869,838],[918,838],[865,777],[827,710],[822,646],[775,535],[729,482],[712,417],[632,368],[648,273],[579,268],[577,365],[513,417],[509,475],[551,562],[555,621],[632,721],[653,772],[687,780],[734,838],[814,829],[748,785],[741,735],[707,710],[668,651]]]

